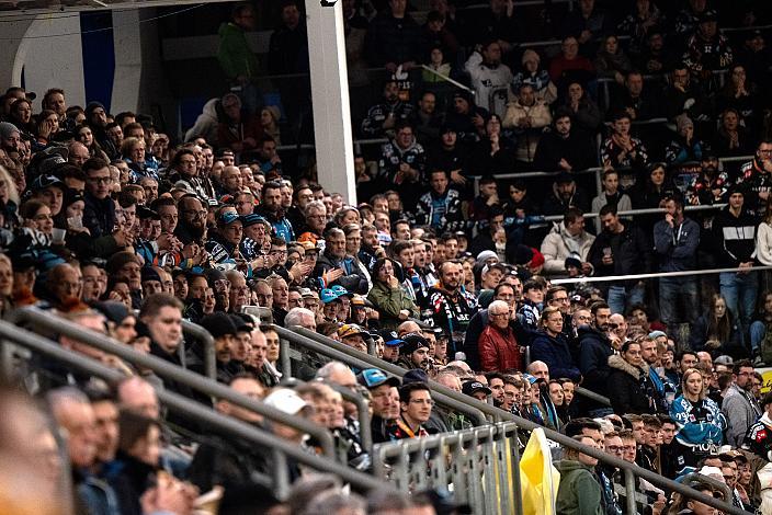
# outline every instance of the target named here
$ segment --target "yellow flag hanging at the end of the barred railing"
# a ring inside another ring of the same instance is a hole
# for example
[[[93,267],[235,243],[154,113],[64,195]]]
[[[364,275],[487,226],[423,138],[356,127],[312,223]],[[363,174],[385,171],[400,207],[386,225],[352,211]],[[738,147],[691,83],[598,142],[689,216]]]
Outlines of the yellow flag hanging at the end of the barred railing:
[[[555,515],[559,483],[560,472],[553,467],[547,437],[544,430],[536,428],[520,458],[523,515]]]

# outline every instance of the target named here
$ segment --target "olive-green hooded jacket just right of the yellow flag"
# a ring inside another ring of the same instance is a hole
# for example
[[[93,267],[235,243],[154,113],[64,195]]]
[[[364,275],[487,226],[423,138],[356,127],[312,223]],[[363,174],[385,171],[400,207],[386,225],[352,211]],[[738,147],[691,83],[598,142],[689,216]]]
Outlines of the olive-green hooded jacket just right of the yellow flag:
[[[560,472],[555,513],[560,515],[603,515],[601,483],[592,469],[571,459],[555,464]]]

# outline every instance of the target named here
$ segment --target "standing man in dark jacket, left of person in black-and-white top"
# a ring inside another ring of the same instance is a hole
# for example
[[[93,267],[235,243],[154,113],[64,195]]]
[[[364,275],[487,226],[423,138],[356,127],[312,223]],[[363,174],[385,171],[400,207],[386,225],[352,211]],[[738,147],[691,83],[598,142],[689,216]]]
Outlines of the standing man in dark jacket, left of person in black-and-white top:
[[[666,198],[665,209],[665,219],[654,226],[654,249],[659,258],[659,271],[695,270],[700,225],[683,216],[683,201],[680,197]],[[678,317],[679,299],[683,301],[683,319]],[[678,321],[694,323],[699,304],[697,277],[660,277],[659,311],[662,323],[668,327]]]

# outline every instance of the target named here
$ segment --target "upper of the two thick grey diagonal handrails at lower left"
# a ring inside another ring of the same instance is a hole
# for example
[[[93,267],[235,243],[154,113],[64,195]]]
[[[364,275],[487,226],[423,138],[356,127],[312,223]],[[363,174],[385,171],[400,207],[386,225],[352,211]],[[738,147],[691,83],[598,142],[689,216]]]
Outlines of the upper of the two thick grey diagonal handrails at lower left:
[[[320,428],[318,425],[299,416],[290,415],[281,410],[265,405],[262,402],[257,402],[253,399],[237,393],[230,388],[200,374],[185,370],[184,368],[164,362],[157,356],[137,352],[130,346],[122,344],[109,336],[105,336],[104,334],[86,329],[77,323],[70,322],[69,320],[55,317],[33,306],[15,309],[8,313],[7,319],[16,325],[21,322],[32,322],[36,327],[42,327],[52,331],[57,331],[61,334],[67,334],[68,336],[77,339],[86,345],[90,345],[99,348],[100,351],[113,354],[133,365],[149,368],[161,378],[168,378],[173,381],[181,382],[207,396],[227,400],[228,402],[232,402],[234,404],[246,408],[268,419],[308,433],[319,440],[319,445],[325,456],[334,456],[334,443],[332,440],[332,436],[327,430]]]

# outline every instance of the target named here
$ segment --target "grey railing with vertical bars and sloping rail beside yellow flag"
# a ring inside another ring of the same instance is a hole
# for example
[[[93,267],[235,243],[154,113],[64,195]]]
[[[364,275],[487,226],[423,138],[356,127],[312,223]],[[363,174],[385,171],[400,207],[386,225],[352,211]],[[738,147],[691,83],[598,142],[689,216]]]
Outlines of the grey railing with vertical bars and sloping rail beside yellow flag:
[[[678,492],[716,507],[725,514],[747,515],[747,512],[730,504],[731,499],[726,496],[727,490],[723,490],[724,500],[705,495],[691,487],[519,417],[514,422],[453,434],[378,444],[373,453],[374,473],[393,481],[398,490],[405,492],[424,488],[450,489],[454,492],[456,502],[469,504],[475,514],[522,515],[519,430],[536,428],[544,431],[549,440],[564,448],[576,449],[623,471],[626,492],[636,491],[637,477],[666,491]],[[634,494],[626,495],[626,513],[637,513]]]

